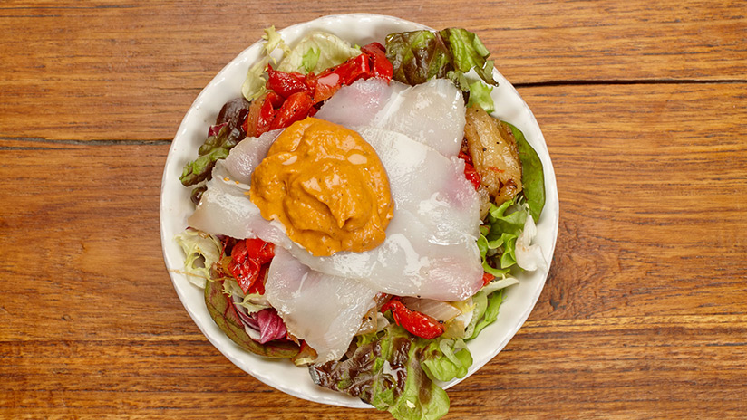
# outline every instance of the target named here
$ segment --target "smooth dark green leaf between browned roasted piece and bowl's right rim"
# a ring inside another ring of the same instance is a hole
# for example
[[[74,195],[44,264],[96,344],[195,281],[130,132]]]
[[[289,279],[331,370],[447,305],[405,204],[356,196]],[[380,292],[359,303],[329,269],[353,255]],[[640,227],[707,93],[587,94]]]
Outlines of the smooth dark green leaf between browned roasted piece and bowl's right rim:
[[[524,133],[508,122],[501,121],[511,129],[516,138],[519,148],[519,159],[521,160],[521,183],[524,185],[524,196],[527,198],[529,213],[535,222],[539,221],[542,208],[545,206],[545,171],[542,161],[539,160],[537,151],[531,147]]]

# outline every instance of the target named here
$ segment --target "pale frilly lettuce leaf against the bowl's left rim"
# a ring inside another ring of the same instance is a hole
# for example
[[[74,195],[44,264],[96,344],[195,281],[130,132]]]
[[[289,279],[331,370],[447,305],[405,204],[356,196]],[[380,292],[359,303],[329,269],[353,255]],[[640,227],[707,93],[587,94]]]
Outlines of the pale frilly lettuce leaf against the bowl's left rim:
[[[174,238],[184,251],[187,279],[199,288],[210,279],[210,267],[220,260],[220,241],[211,234],[187,229]]]

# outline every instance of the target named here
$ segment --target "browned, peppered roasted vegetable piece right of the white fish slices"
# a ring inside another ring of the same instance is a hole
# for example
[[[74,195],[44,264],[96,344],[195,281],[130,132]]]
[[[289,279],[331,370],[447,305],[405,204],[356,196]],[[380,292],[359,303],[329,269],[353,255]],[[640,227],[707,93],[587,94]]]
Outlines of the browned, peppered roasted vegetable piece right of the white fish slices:
[[[464,138],[475,170],[496,205],[521,191],[519,149],[508,126],[493,119],[480,106],[472,105],[465,115]]]

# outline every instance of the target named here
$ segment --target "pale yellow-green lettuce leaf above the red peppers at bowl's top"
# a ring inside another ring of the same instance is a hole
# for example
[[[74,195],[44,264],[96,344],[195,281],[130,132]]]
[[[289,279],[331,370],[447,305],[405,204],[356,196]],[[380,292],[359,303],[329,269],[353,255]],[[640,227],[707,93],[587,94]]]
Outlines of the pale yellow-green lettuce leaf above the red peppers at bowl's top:
[[[314,32],[307,34],[290,49],[277,70],[318,73],[360,54],[360,48],[355,48],[331,33]]]

